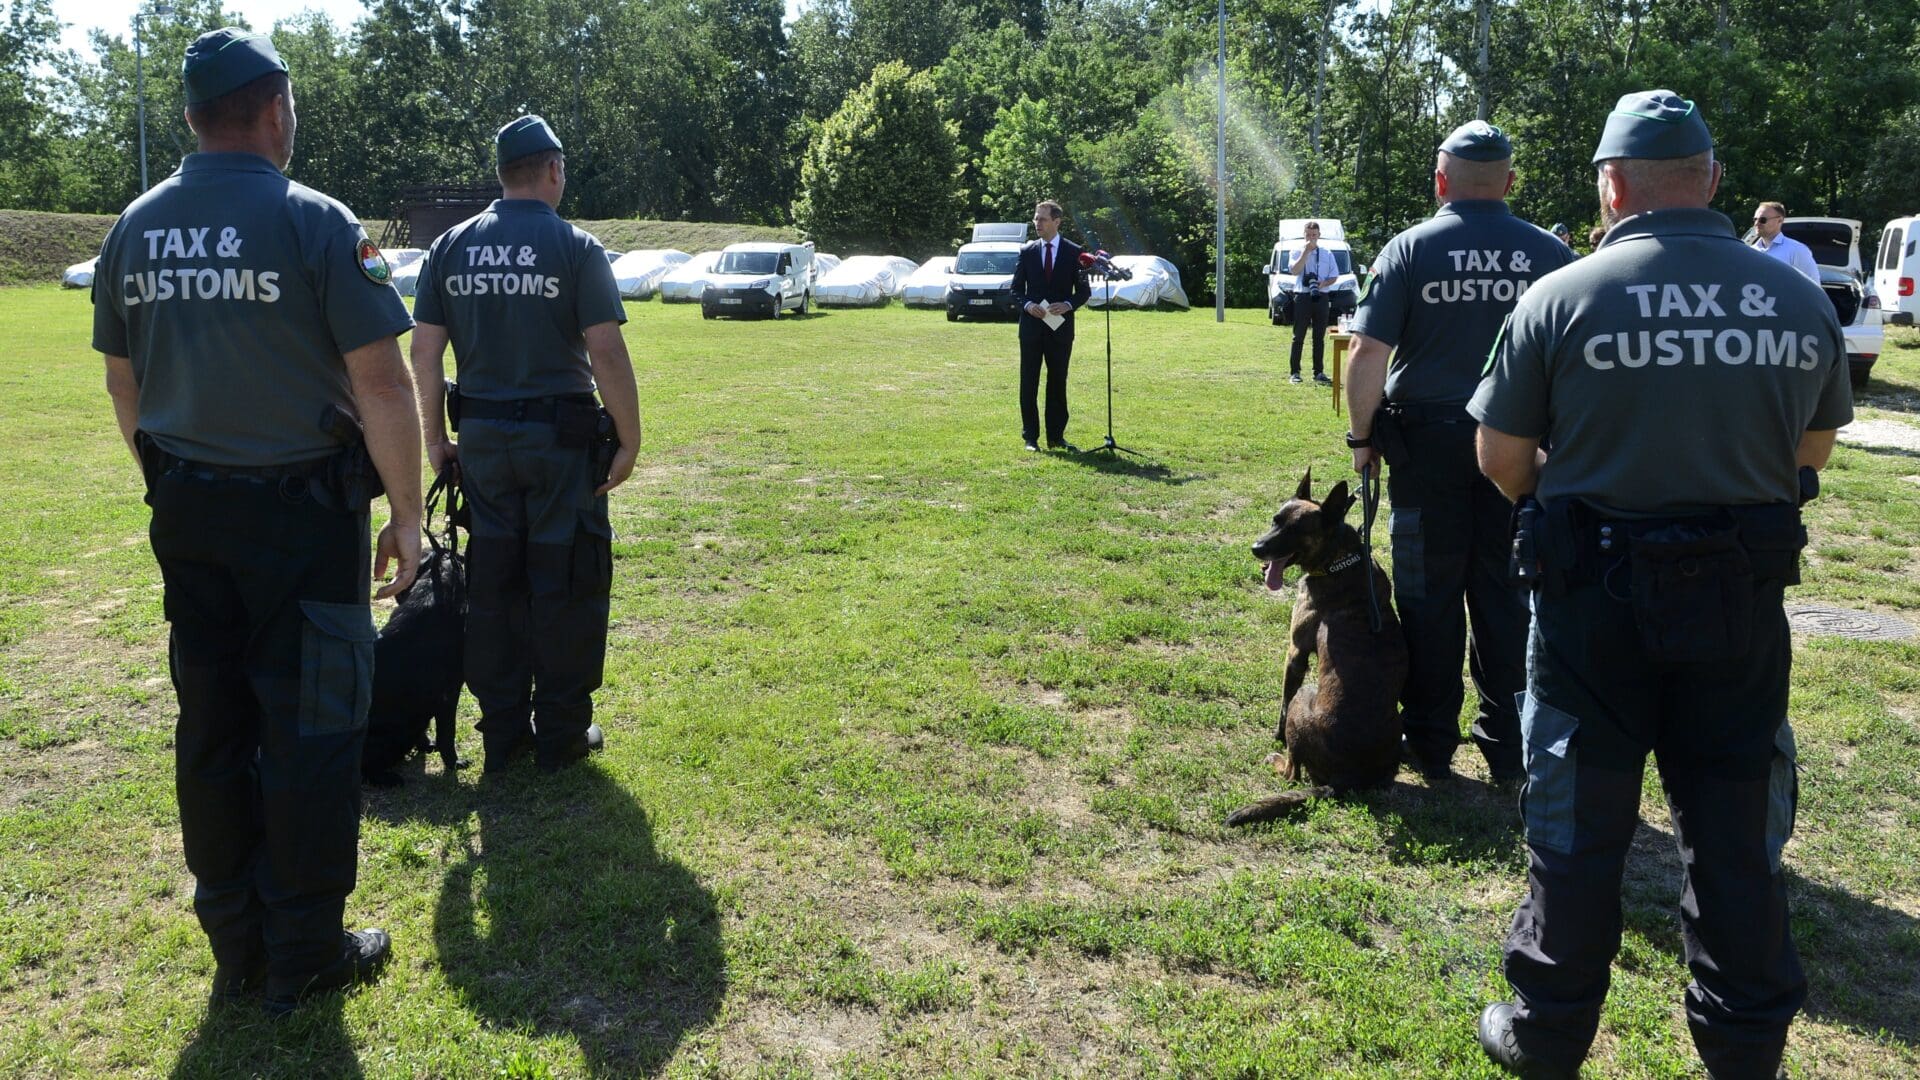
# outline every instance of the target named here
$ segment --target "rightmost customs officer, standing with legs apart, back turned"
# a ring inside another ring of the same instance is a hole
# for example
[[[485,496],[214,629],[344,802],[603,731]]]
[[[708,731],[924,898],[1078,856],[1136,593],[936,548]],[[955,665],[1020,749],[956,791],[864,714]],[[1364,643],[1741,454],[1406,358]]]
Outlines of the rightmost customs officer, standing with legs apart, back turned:
[[[1478,1036],[1511,1072],[1578,1070],[1651,751],[1693,1045],[1711,1076],[1766,1078],[1807,997],[1780,869],[1797,799],[1782,590],[1799,503],[1853,417],[1845,342],[1816,284],[1707,209],[1720,165],[1693,102],[1620,98],[1594,163],[1605,242],[1526,292],[1471,404],[1536,582],[1528,894],[1505,945],[1515,999]]]

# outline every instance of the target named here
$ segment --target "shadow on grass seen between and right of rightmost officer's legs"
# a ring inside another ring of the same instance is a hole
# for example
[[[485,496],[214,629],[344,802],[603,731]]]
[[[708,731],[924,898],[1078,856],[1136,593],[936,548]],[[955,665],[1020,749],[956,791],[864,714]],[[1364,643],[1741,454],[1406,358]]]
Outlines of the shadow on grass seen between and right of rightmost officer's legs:
[[[1674,838],[1642,821],[1620,888],[1626,932],[1684,963],[1678,905]],[[1866,1036],[1885,1032],[1884,1038],[1920,1045],[1920,920],[1811,882],[1791,867],[1788,909],[1807,970],[1803,1013]]]

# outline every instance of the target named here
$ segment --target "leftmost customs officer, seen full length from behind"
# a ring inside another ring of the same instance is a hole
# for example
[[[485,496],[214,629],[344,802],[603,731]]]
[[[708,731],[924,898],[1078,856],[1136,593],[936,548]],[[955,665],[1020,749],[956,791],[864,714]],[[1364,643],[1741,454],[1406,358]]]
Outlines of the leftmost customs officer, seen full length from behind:
[[[180,838],[213,1001],[269,1013],[371,976],[348,932],[372,696],[367,503],[392,519],[380,596],[420,557],[407,307],[353,213],[282,175],[294,90],[263,35],[200,35],[182,65],[200,152],[100,248],[94,348],[154,509]],[[365,429],[365,434],[363,430]],[[374,479],[378,473],[378,482]]]

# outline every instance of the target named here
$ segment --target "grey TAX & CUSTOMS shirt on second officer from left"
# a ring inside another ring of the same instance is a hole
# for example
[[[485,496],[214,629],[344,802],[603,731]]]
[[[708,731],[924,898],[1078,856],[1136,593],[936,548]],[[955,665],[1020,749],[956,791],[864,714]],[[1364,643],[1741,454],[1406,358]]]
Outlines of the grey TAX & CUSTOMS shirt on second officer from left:
[[[461,396],[593,390],[586,329],[626,323],[607,248],[532,198],[501,198],[426,252],[413,317],[447,329]]]

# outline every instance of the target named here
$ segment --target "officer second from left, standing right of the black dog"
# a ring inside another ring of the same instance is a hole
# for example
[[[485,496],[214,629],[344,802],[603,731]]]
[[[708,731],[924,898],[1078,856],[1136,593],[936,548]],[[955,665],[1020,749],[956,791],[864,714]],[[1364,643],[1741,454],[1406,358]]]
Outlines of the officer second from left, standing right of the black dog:
[[[426,254],[413,365],[428,457],[459,463],[472,509],[465,665],[486,771],[524,749],[553,771],[603,742],[593,690],[612,590],[607,492],[634,471],[639,396],[607,250],[555,213],[566,190],[559,136],[524,115],[499,129],[495,152],[505,198]]]

